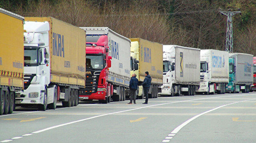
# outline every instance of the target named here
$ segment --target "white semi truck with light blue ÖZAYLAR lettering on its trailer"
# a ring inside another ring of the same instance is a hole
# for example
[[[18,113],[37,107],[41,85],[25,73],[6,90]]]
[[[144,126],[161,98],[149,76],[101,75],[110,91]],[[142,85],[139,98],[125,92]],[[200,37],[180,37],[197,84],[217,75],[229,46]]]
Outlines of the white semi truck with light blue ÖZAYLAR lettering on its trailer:
[[[201,49],[199,93],[224,94],[229,83],[229,53],[214,49]]]

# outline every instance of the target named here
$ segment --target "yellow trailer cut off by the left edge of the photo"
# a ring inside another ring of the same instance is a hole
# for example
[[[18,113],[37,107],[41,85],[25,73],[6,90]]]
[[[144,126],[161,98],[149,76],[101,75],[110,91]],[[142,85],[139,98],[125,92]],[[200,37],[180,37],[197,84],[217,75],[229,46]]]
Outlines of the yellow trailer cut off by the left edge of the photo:
[[[24,17],[0,8],[0,115],[11,114],[23,89]]]

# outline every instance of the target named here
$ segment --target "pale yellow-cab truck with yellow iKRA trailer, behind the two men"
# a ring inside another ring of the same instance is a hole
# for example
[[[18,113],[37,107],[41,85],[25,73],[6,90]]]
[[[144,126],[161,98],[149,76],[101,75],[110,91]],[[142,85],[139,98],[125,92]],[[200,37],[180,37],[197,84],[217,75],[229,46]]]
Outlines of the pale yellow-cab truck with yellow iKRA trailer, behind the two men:
[[[145,72],[148,71],[151,76],[151,86],[149,88],[149,98],[158,97],[158,86],[163,83],[163,70],[162,70],[162,44],[151,42],[141,38],[131,39],[131,54],[132,59],[139,61],[138,70],[131,70],[130,74],[135,73],[139,80],[137,96],[143,99],[144,93],[141,83],[145,78]],[[137,63],[137,62],[133,62]]]

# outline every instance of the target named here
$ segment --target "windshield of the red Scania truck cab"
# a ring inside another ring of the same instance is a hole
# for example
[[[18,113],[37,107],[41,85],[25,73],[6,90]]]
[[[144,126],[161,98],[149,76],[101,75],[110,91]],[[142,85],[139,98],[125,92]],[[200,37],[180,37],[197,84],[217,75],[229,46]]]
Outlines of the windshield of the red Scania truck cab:
[[[86,69],[104,69],[104,67],[104,55],[86,54]]]

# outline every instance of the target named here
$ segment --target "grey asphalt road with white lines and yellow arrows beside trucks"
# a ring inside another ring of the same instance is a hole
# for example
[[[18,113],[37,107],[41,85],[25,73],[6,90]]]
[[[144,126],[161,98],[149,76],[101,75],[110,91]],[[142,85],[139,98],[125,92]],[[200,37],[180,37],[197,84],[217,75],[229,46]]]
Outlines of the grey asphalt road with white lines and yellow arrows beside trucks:
[[[256,142],[256,93],[80,103],[0,116],[0,142]]]

